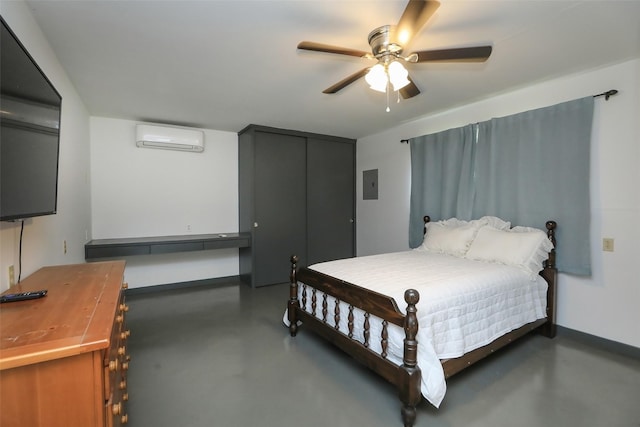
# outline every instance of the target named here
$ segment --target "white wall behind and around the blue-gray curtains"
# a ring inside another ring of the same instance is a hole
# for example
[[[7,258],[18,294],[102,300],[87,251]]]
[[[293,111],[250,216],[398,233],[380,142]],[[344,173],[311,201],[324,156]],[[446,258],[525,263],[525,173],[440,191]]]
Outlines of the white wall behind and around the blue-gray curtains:
[[[595,106],[591,161],[593,276],[560,275],[558,324],[640,347],[640,59],[535,84],[359,139],[358,255],[408,249],[410,153],[407,144],[400,144],[401,139],[608,89],[620,93],[609,101],[596,100]],[[429,102],[428,91],[421,97]],[[368,169],[379,170],[379,200],[362,200],[362,171]],[[615,239],[615,252],[602,252],[603,237]]]

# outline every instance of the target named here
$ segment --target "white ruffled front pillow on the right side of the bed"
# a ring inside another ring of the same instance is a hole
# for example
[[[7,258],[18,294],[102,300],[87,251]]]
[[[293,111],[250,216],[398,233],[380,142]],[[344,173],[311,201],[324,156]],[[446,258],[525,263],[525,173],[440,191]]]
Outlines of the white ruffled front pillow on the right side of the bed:
[[[466,258],[513,265],[534,279],[543,268],[553,244],[546,233],[537,228],[514,227],[498,230],[485,226],[478,230]]]

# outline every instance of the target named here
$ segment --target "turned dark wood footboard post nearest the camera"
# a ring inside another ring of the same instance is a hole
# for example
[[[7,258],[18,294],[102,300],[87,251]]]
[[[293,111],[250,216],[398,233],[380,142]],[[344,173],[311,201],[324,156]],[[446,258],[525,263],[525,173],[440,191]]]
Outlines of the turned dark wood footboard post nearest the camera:
[[[416,406],[420,403],[421,372],[418,367],[418,317],[416,304],[420,294],[415,289],[407,289],[404,293],[407,303],[407,314],[404,318],[404,356],[400,379],[400,400],[402,401],[402,421],[405,427],[413,426],[416,421]]]

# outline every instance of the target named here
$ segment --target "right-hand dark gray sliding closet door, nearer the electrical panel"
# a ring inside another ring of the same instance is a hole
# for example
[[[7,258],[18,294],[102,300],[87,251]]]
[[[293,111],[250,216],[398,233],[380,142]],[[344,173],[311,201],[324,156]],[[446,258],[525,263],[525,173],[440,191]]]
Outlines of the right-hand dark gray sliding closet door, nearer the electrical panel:
[[[355,145],[307,140],[308,263],[355,256]]]

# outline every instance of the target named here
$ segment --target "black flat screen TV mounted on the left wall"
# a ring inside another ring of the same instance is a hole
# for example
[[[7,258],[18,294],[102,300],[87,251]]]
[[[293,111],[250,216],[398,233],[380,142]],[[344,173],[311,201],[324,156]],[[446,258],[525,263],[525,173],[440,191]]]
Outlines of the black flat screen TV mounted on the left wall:
[[[62,97],[0,20],[0,221],[55,214]]]

